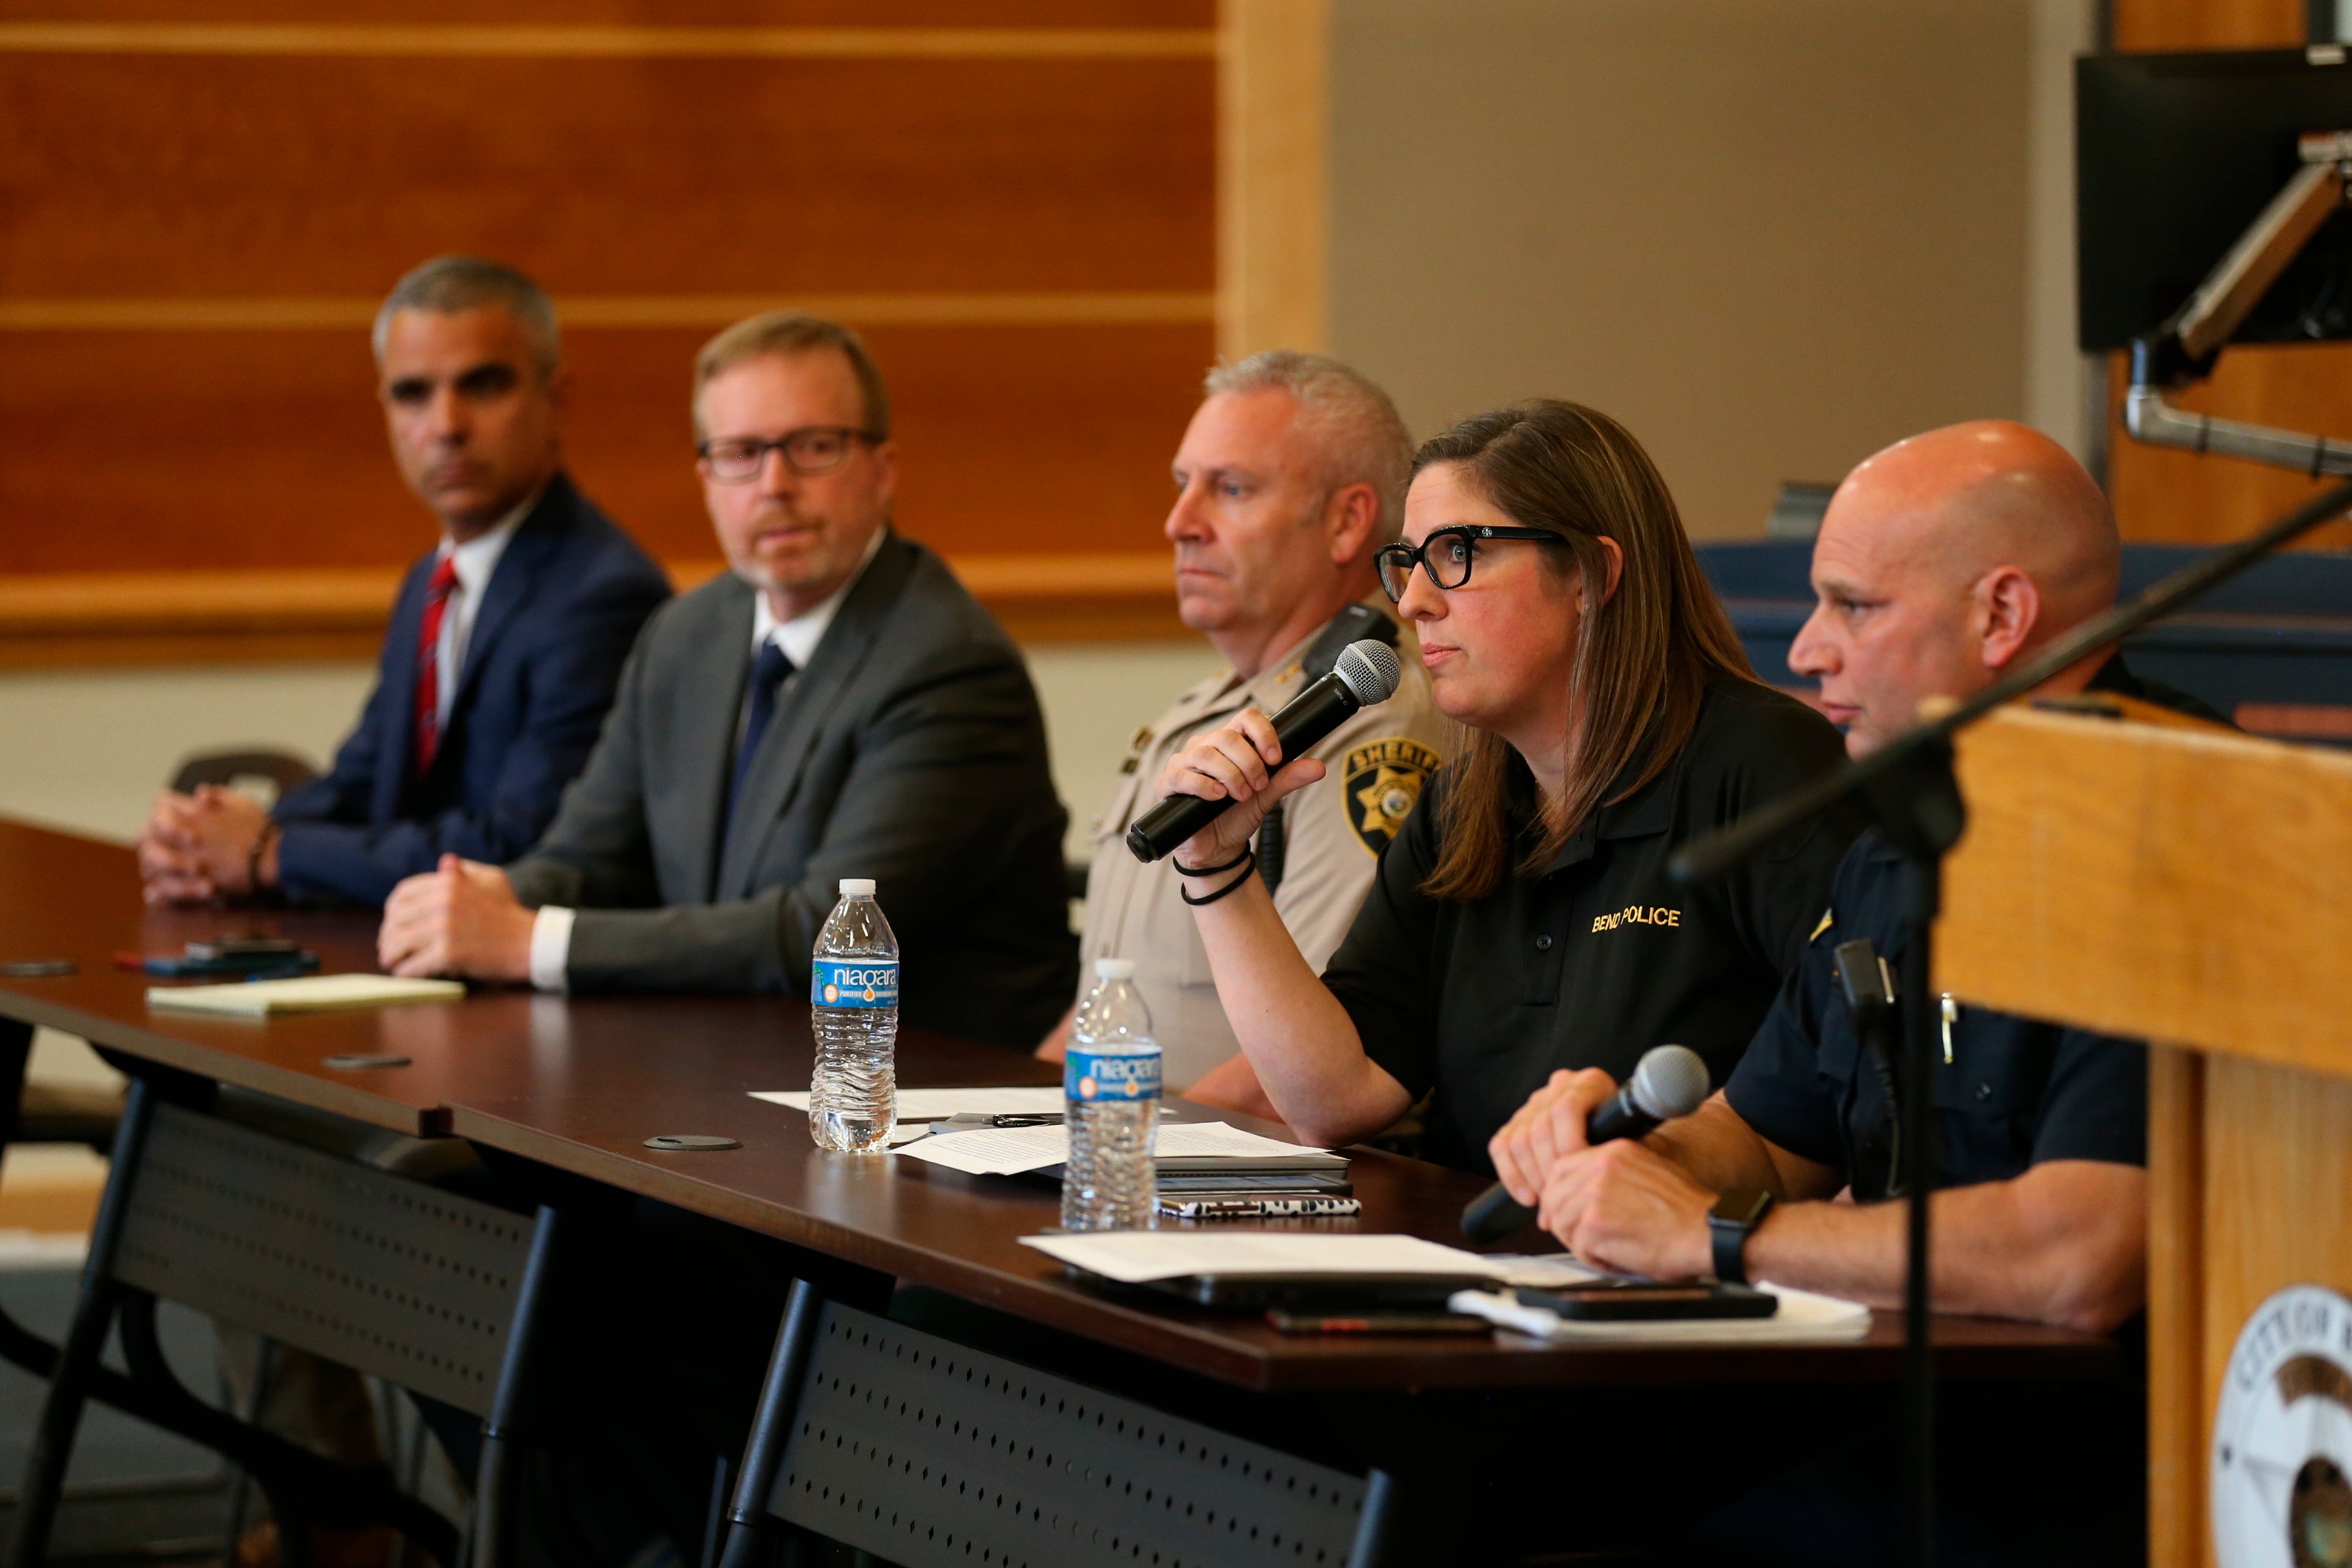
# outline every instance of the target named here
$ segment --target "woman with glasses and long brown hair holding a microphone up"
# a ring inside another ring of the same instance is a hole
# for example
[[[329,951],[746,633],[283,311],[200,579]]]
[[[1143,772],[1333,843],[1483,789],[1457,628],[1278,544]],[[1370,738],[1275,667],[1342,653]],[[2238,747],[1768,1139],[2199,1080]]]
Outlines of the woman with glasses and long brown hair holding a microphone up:
[[[1381,583],[1468,729],[1329,969],[1254,877],[1265,809],[1322,776],[1244,712],[1164,795],[1232,799],[1176,851],[1218,997],[1303,1138],[1367,1138],[1435,1091],[1425,1154],[1486,1143],[1552,1072],[1623,1079],[1684,1044],[1719,1084],[1823,924],[1853,818],[1679,886],[1670,851],[1837,766],[1837,731],[1755,679],[1649,454],[1613,418],[1529,402],[1414,458]],[[1378,788],[1378,780],[1374,780]]]

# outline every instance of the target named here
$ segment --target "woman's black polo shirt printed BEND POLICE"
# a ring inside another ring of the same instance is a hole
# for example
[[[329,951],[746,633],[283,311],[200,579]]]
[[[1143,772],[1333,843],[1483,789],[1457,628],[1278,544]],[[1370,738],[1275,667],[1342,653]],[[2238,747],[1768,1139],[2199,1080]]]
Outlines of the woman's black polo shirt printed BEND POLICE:
[[[1439,856],[1442,773],[1381,853],[1324,985],[1364,1051],[1406,1093],[1435,1088],[1430,1159],[1491,1171],[1486,1140],[1557,1067],[1623,1079],[1644,1051],[1684,1044],[1722,1081],[1755,1037],[1783,971],[1830,903],[1853,816],[1795,830],[1708,886],[1679,886],[1682,842],[1837,766],[1818,712],[1755,682],[1708,689],[1682,755],[1637,795],[1602,806],[1536,877],[1458,903],[1421,891]],[[1515,823],[1534,827],[1534,780],[1512,759]]]

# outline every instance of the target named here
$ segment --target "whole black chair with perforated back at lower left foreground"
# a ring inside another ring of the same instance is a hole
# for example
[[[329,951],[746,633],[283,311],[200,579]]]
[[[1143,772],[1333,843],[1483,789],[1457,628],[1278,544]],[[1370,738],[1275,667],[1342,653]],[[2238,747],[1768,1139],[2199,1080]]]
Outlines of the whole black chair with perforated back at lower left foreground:
[[[0,1020],[0,1058],[14,1058],[16,1074],[31,1034],[31,1025]],[[14,1086],[5,1065],[0,1081]],[[296,1145],[205,1110],[207,1084],[162,1077],[169,1100],[148,1077],[132,1079],[66,1342],[52,1345],[0,1312],[0,1359],[49,1382],[7,1568],[45,1559],[89,1399],[249,1474],[280,1521],[282,1561],[301,1563],[299,1523],[381,1521],[437,1563],[499,1563],[510,1547],[513,1439],[555,1211],[508,1213]],[[191,1394],[155,1331],[162,1298],[480,1415],[466,1540],[390,1476],[343,1469]],[[118,1326],[127,1371],[101,1361]]]

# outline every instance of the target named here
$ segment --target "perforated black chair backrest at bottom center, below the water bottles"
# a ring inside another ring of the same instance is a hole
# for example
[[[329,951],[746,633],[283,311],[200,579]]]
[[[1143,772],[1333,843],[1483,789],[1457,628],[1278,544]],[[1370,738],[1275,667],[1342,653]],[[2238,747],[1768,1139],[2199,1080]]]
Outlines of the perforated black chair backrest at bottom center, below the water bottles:
[[[1348,1568],[1369,1490],[830,1302],[769,1512],[906,1568]]]

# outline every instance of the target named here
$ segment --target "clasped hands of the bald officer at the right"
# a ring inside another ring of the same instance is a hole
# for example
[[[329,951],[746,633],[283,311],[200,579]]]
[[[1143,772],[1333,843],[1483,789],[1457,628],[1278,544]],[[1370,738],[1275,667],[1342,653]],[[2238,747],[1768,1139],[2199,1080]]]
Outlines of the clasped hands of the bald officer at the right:
[[[1639,1138],[1585,1143],[1585,1121],[1613,1093],[1599,1067],[1555,1072],[1486,1143],[1496,1175],[1583,1262],[1698,1279],[1715,1262],[1715,1194]]]

